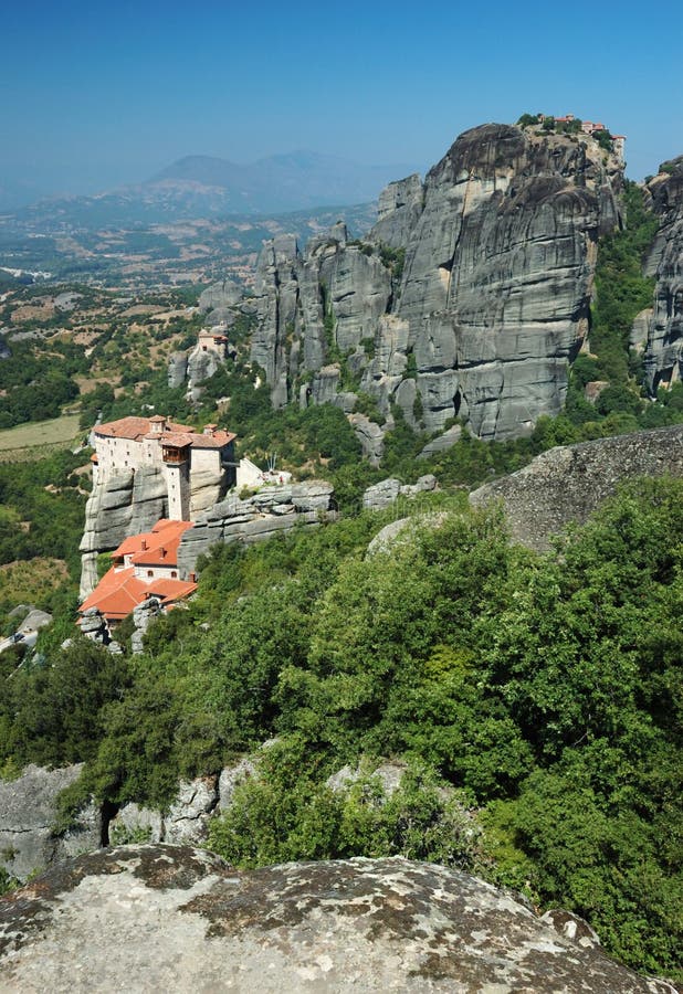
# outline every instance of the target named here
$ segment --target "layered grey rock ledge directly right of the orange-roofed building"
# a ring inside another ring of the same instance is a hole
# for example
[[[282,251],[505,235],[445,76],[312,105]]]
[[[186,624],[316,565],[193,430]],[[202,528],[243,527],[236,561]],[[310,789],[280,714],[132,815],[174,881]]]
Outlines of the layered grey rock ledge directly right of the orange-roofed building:
[[[316,528],[333,516],[333,486],[325,480],[267,486],[243,498],[230,494],[183,533],[178,549],[180,575],[195,572],[198,558],[216,544],[251,544],[296,527]]]

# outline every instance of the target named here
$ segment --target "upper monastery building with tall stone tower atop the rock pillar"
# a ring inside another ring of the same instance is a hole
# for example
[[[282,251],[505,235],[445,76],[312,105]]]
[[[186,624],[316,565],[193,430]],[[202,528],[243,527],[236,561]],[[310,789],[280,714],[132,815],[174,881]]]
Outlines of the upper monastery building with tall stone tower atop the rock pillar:
[[[204,484],[213,478],[217,494],[234,483],[234,438],[232,432],[220,431],[216,425],[207,425],[200,433],[161,414],[97,424],[92,432],[96,452],[93,484],[103,484],[113,473],[125,469],[162,467],[168,516],[187,521],[193,511],[192,477],[201,474]]]

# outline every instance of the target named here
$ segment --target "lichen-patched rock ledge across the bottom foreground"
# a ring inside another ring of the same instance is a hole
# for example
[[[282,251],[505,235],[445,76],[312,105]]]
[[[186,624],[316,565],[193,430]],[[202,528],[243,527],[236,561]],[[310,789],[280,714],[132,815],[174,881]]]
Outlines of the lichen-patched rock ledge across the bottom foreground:
[[[400,858],[238,871],[123,846],[0,901],[0,991],[675,992],[555,920],[566,934],[474,877]]]

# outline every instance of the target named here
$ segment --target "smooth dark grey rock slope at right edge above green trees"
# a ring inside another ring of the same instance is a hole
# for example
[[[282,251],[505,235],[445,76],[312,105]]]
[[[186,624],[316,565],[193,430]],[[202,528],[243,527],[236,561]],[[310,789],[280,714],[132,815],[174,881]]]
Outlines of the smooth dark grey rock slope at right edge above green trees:
[[[551,448],[470,500],[476,507],[501,500],[512,537],[545,550],[551,536],[586,521],[620,484],[664,475],[683,476],[683,425]]]

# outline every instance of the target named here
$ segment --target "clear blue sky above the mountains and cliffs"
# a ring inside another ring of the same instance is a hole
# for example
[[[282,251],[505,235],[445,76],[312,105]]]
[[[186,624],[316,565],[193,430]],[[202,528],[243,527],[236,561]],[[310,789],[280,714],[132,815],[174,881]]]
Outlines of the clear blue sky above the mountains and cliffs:
[[[35,2],[0,12],[0,187],[86,192],[186,155],[433,165],[525,110],[683,154],[683,2]]]

